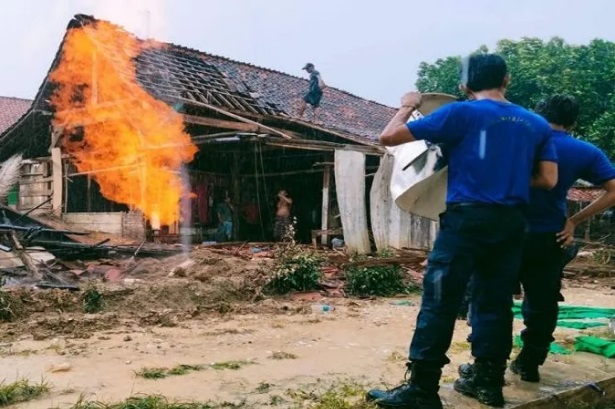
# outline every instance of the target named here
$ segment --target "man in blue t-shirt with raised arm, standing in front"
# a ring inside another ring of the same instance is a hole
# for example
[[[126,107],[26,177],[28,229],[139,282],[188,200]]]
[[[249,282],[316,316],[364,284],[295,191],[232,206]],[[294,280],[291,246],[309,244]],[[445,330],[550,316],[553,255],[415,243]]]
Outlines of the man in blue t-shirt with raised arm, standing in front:
[[[383,408],[441,409],[442,367],[449,363],[457,313],[470,276],[475,372],[455,389],[487,405],[504,405],[502,388],[512,350],[512,293],[518,277],[530,184],[557,182],[549,124],[504,93],[505,61],[494,54],[466,58],[461,89],[471,101],[454,102],[407,123],[421,95],[409,93],[380,135],[387,146],[415,140],[442,144],[448,155],[446,211],[429,255],[423,299],[410,345],[410,380],[367,399]]]

